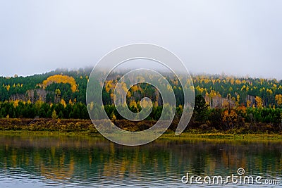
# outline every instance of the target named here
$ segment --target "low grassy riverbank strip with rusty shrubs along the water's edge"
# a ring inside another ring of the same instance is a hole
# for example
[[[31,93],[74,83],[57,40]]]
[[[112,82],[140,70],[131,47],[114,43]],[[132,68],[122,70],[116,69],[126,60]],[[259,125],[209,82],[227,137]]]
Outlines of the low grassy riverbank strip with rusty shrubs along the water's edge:
[[[117,124],[126,127],[127,130],[136,131],[138,126],[151,127],[154,121],[145,121],[141,124],[126,124],[124,120],[118,120]],[[134,126],[133,126],[134,125]],[[0,118],[0,134],[2,135],[42,135],[42,136],[94,136],[102,137],[96,130],[91,120],[80,119],[13,119]],[[161,139],[247,139],[247,140],[282,140],[281,132],[250,132],[244,134],[240,129],[233,130],[204,130],[188,128],[182,134],[176,136],[173,130],[167,130]]]

